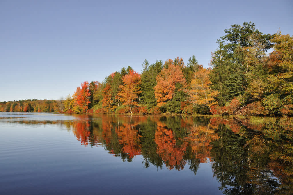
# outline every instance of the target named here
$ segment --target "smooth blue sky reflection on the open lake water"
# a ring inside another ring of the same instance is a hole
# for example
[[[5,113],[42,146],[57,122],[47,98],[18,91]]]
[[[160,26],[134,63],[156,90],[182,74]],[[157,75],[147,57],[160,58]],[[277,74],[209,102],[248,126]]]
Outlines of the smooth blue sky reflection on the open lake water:
[[[122,162],[104,147],[81,146],[57,125],[8,123],[0,128],[0,148],[1,194],[222,194],[209,163],[200,163],[197,175],[188,165],[181,171],[144,168],[142,155]]]

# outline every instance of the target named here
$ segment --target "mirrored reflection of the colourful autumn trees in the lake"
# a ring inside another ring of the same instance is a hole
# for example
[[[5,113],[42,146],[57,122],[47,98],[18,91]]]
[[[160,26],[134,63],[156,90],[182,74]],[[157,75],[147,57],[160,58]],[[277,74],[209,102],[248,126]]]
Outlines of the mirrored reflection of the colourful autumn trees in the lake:
[[[145,168],[182,170],[187,166],[196,174],[200,163],[211,162],[225,194],[293,194],[292,119],[76,117],[74,121],[21,123],[64,126],[81,145],[102,145],[122,161],[141,155]]]

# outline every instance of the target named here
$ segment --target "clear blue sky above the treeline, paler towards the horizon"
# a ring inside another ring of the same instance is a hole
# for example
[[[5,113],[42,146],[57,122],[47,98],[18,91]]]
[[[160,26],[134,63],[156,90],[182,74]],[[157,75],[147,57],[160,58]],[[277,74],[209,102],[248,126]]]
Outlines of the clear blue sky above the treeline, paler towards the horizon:
[[[130,65],[195,55],[233,24],[293,34],[293,1],[0,0],[0,101],[59,99]]]

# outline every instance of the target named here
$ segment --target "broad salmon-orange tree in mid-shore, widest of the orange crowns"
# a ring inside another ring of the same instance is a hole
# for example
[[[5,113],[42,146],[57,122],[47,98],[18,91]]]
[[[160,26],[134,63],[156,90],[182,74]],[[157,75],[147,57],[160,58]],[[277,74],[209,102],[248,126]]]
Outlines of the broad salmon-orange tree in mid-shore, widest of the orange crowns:
[[[171,59],[165,62],[164,68],[156,77],[156,81],[157,85],[154,87],[154,90],[159,107],[165,105],[168,100],[172,100],[177,83],[181,84],[183,88],[186,85],[180,66],[176,66]]]

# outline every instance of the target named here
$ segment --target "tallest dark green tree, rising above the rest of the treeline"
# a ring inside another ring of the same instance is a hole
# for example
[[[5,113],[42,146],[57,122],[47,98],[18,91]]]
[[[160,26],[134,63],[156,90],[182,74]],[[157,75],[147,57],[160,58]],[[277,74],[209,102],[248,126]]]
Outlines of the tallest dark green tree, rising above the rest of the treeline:
[[[251,41],[251,37],[257,37],[259,43],[263,45],[262,52],[272,46],[270,42],[272,35],[259,32],[251,22],[231,25],[231,28],[225,29],[224,32],[225,35],[217,40],[219,49],[212,57],[213,71],[210,75],[213,89],[219,90],[217,98],[219,105],[224,105],[234,96],[244,93],[247,86],[245,72],[248,72],[245,54],[247,48],[255,44]]]

